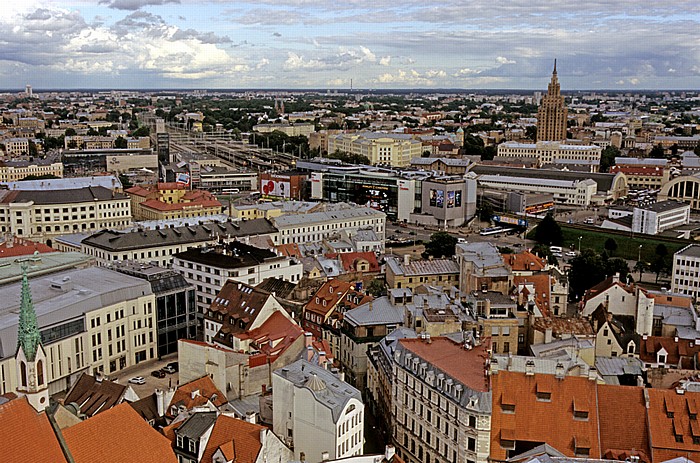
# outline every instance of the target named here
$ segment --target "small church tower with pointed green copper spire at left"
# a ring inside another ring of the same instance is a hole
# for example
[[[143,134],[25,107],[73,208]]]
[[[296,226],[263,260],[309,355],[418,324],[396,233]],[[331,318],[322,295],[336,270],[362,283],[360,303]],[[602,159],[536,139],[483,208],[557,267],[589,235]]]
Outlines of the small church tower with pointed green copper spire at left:
[[[49,405],[46,352],[41,345],[39,323],[32,303],[26,266],[22,267],[22,294],[15,363],[17,365],[17,393],[26,396],[29,403],[38,412],[43,411]]]

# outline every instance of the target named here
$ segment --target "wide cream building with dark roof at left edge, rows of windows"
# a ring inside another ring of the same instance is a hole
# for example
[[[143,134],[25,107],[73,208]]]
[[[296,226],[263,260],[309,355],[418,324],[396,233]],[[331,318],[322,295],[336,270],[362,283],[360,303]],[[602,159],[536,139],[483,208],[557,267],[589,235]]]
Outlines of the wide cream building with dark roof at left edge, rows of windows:
[[[0,191],[0,232],[38,241],[68,233],[124,228],[131,204],[104,187],[66,190]]]

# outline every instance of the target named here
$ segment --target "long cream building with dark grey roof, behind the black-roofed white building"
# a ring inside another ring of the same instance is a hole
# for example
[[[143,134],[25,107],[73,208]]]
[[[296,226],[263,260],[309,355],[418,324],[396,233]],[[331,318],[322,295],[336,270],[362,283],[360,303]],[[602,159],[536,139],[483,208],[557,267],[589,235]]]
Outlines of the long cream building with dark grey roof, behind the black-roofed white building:
[[[180,227],[157,226],[153,230],[129,232],[103,230],[85,238],[81,243],[81,251],[95,257],[98,265],[118,260],[135,260],[171,267],[173,255],[179,252],[250,236],[268,237],[272,243],[278,243],[277,229],[270,221],[255,219]]]

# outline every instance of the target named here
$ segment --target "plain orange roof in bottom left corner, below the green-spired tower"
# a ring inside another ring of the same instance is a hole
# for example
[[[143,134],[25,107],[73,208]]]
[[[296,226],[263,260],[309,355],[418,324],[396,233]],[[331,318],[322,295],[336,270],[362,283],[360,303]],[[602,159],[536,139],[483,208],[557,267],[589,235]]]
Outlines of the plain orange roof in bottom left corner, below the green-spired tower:
[[[26,398],[0,405],[0,423],[2,461],[66,461],[46,413],[37,413]]]

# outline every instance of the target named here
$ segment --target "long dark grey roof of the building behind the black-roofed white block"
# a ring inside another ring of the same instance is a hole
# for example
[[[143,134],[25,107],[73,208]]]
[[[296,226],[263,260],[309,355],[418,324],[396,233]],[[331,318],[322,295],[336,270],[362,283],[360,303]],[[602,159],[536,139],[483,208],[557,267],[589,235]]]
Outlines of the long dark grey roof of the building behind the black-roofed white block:
[[[120,252],[157,246],[172,246],[178,243],[209,242],[216,236],[236,238],[253,235],[269,235],[276,232],[277,229],[272,226],[269,220],[254,219],[127,233],[121,233],[115,230],[103,230],[85,238],[83,244],[111,252]]]

